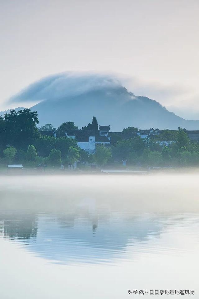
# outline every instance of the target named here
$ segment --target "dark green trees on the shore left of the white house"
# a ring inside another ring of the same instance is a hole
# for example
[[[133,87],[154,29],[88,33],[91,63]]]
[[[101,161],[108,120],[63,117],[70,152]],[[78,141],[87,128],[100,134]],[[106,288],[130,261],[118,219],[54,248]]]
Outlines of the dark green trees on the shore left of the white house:
[[[94,122],[96,118],[94,117]],[[97,120],[96,120],[97,122]],[[105,147],[99,147],[95,155],[82,150],[77,141],[66,137],[66,130],[78,129],[74,122],[62,123],[57,129],[51,124],[37,128],[37,112],[30,109],[11,110],[4,117],[0,116],[0,162],[1,164],[39,164],[52,166],[73,165],[74,162],[108,162],[111,153]],[[92,124],[89,124],[92,129]],[[86,129],[86,127],[84,128]],[[96,123],[95,128],[96,130]],[[41,131],[54,132],[57,137],[46,136]]]

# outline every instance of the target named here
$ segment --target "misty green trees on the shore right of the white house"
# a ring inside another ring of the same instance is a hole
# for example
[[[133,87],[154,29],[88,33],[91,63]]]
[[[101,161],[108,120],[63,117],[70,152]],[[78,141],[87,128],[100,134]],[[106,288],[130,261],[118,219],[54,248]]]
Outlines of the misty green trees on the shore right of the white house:
[[[128,164],[141,166],[194,166],[199,164],[199,145],[192,143],[186,129],[163,130],[160,135],[146,138],[127,138],[127,132],[137,132],[129,127],[112,146],[115,160],[126,159]],[[116,139],[117,136],[114,136]]]

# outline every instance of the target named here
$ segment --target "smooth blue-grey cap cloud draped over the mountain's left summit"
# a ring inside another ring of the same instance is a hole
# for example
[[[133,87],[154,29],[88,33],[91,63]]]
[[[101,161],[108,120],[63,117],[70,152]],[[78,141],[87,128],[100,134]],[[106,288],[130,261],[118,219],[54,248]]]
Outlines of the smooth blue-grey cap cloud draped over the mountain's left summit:
[[[104,74],[66,72],[44,77],[9,99],[10,103],[40,102],[75,96],[99,88],[121,87],[117,78]]]

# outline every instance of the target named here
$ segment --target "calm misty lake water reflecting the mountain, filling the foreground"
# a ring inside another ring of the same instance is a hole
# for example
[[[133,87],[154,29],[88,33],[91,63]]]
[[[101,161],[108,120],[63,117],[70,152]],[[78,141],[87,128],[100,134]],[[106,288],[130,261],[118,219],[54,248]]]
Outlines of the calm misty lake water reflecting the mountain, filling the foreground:
[[[198,178],[0,177],[0,298],[199,298]]]

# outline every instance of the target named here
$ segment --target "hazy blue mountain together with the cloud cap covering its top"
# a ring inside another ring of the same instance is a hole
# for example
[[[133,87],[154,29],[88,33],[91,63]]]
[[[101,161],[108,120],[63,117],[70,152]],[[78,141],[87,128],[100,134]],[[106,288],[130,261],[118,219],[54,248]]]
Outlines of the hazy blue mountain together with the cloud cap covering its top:
[[[31,110],[39,116],[39,126],[74,121],[81,128],[96,116],[99,125],[111,131],[128,126],[140,129],[159,128],[199,130],[199,121],[185,120],[169,112],[148,97],[135,96],[115,78],[99,74],[55,74],[31,84],[10,102],[38,102]]]

